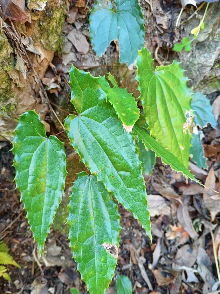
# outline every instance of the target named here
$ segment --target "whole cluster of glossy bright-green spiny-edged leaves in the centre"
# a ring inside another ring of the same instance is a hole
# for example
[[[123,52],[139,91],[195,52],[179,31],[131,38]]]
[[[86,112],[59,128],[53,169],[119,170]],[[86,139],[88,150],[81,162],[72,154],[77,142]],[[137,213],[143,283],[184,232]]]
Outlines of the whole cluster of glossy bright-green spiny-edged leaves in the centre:
[[[117,264],[121,225],[115,199],[152,239],[143,152],[154,151],[173,170],[195,180],[188,170],[192,94],[183,69],[176,61],[153,69],[145,48],[138,51],[137,67],[143,114],[111,74],[106,79],[74,66],[70,70],[70,102],[77,114],[65,119],[65,130],[89,174],[79,173],[73,185],[67,225],[73,258],[91,294],[105,293]],[[41,254],[64,192],[64,143],[48,138],[39,115],[27,111],[19,119],[12,151],[16,186]]]

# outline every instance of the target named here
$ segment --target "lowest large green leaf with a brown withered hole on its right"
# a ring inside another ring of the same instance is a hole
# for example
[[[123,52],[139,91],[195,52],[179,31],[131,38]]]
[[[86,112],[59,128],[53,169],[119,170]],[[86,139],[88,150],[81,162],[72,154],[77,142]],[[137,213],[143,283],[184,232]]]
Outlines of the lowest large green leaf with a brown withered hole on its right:
[[[120,215],[96,176],[78,174],[69,203],[70,247],[77,270],[91,294],[104,294],[117,264]]]

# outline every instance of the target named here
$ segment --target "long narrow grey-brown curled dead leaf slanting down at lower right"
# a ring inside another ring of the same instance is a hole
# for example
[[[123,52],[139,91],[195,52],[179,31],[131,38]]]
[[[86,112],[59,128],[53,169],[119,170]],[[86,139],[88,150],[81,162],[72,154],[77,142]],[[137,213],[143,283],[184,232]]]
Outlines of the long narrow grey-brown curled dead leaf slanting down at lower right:
[[[180,222],[180,224],[183,226],[183,228],[187,231],[187,233],[190,235],[191,238],[196,239],[198,238],[198,234],[195,231],[192,220],[189,217],[189,211],[188,211],[188,200],[189,197],[185,197],[183,201],[183,205],[179,205],[177,209],[177,219]]]

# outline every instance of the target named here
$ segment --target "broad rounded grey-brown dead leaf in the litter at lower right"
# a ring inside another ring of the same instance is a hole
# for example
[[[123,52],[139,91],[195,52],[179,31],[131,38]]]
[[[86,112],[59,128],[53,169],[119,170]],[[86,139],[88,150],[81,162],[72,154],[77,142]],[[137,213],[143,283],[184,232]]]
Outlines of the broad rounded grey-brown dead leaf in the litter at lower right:
[[[183,245],[177,250],[175,261],[179,265],[192,267],[196,262],[198,248],[196,246]]]

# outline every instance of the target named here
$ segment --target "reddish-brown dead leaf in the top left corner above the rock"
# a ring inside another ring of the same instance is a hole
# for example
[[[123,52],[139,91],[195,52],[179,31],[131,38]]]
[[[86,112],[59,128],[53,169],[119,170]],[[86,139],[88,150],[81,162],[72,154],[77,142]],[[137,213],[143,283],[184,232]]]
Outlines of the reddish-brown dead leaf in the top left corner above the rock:
[[[25,0],[0,0],[1,10],[9,19],[20,21],[24,24],[31,22],[31,15],[25,7]]]

